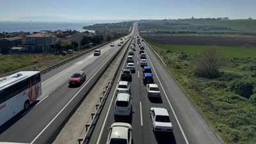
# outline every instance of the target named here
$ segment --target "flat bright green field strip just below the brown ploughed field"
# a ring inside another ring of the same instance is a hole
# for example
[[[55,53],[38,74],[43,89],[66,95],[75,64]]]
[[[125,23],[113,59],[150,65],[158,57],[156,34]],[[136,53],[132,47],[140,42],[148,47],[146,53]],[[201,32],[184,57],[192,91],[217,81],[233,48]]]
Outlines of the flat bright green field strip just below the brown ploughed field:
[[[172,45],[172,44],[157,44],[157,47],[165,51],[183,51],[188,54],[200,52],[205,49],[205,45]],[[220,46],[219,49],[229,57],[251,57],[256,58],[256,47],[225,47]]]

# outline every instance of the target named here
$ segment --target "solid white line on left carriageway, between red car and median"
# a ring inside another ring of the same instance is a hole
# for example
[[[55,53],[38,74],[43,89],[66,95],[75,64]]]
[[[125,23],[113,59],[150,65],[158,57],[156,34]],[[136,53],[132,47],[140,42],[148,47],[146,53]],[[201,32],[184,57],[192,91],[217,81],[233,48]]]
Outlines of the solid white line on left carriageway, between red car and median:
[[[97,72],[99,72],[99,70],[110,60],[110,58],[112,58],[112,56],[115,54],[115,52],[108,58],[108,60],[106,60],[106,62],[97,70]],[[95,72],[95,74],[97,74],[97,72]],[[91,81],[91,79],[95,76],[95,74],[93,74],[93,76],[87,81],[86,84],[84,84],[84,86],[86,86],[89,81]],[[121,75],[120,75],[121,76]],[[51,122],[49,122],[49,124],[46,125],[46,127],[36,136],[36,138],[31,142],[35,143],[36,139],[39,138],[39,136],[45,131],[45,129],[47,129],[47,127],[49,127],[49,125],[52,124],[52,122],[60,115],[60,113],[67,108],[68,104],[70,104],[70,102],[72,102],[72,100],[78,95],[79,92],[81,92],[81,90],[83,90],[84,86],[76,93],[76,95],[74,95],[74,97],[72,97],[72,99],[70,99],[68,101],[68,103],[61,109],[61,111],[51,120]]]

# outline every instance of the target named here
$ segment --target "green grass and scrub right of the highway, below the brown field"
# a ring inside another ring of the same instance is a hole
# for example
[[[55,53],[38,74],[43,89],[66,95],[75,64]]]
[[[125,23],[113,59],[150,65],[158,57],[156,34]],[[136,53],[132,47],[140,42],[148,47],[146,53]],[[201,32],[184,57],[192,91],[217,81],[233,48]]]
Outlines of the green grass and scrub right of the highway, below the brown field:
[[[189,58],[205,46],[157,44],[152,47],[225,142],[256,142],[255,104],[230,91],[230,83],[236,79],[255,79],[256,47],[220,47],[230,65],[222,68],[221,76],[216,79],[193,75]]]

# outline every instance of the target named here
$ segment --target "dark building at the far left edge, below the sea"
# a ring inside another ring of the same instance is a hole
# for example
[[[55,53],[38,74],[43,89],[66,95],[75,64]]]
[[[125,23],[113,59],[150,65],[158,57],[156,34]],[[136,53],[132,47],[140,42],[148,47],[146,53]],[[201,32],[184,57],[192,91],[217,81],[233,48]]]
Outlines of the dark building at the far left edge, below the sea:
[[[21,47],[22,40],[18,37],[12,38],[1,38],[0,39],[0,49],[2,54],[9,54],[12,47]]]

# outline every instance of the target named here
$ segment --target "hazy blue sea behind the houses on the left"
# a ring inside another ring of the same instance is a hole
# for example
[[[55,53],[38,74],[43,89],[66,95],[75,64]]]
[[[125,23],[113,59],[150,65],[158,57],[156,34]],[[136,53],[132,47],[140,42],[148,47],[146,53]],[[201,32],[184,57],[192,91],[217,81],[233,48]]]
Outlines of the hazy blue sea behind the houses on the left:
[[[38,32],[38,31],[67,31],[71,29],[84,32],[90,29],[83,29],[83,26],[89,26],[92,22],[13,22],[13,21],[0,21],[0,33],[3,32]]]

